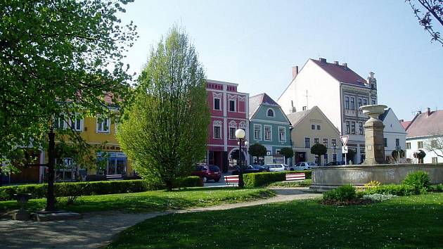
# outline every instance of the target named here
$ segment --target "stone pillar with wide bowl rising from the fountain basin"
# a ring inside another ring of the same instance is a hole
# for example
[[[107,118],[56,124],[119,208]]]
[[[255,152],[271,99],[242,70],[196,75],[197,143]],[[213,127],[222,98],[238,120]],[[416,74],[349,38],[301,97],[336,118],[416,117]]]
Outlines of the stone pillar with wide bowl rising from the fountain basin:
[[[376,165],[386,163],[385,160],[385,139],[383,138],[383,129],[385,125],[378,119],[378,116],[385,112],[385,105],[361,106],[360,110],[369,116],[364,123],[364,140],[366,158],[364,165]]]

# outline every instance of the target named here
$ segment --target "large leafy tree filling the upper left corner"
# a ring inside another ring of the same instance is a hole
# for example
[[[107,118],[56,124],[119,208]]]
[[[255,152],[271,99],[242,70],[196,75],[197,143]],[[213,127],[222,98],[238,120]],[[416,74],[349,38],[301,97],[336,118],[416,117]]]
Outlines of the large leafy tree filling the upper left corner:
[[[113,104],[124,106],[131,76],[121,60],[136,26],[122,25],[116,14],[129,1],[1,2],[0,163],[11,166],[18,148],[53,151],[54,115],[113,115],[105,91]],[[75,132],[70,136],[82,143]],[[54,209],[54,160],[50,155],[46,209]]]

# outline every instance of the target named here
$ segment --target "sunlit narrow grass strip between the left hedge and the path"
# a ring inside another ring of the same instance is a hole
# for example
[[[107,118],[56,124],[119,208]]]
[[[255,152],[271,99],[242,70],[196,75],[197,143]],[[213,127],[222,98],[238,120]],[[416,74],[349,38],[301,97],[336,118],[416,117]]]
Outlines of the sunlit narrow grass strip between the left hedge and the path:
[[[236,203],[257,198],[274,196],[267,189],[237,188],[190,188],[176,191],[147,191],[141,193],[119,193],[103,196],[80,196],[74,205],[66,205],[61,198],[58,207],[74,212],[120,210],[124,212],[148,212],[153,210],[204,207],[221,203]],[[27,203],[29,210],[42,210],[46,199],[34,199]],[[0,212],[18,209],[17,201],[1,201]]]

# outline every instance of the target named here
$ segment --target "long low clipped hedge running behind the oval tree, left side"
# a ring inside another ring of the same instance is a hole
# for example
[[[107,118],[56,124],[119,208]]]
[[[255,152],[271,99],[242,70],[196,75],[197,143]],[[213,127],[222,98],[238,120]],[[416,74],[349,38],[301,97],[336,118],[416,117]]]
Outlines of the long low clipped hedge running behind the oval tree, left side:
[[[200,177],[183,177],[174,182],[174,187],[201,186]],[[15,193],[32,193],[32,198],[45,198],[48,184],[26,184],[0,187],[0,200],[15,200]],[[56,196],[94,196],[110,193],[136,193],[164,189],[161,184],[145,180],[79,181],[55,184]]]

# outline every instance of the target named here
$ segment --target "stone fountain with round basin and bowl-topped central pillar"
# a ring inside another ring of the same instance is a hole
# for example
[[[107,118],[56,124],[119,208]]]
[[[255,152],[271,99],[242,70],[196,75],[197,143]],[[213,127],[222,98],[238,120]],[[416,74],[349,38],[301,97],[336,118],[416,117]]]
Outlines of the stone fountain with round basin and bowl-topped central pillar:
[[[443,163],[432,164],[387,164],[385,162],[385,125],[378,119],[387,106],[361,106],[369,116],[364,124],[366,159],[362,165],[320,166],[312,169],[311,189],[326,191],[338,186],[352,184],[364,186],[369,181],[382,184],[400,184],[409,172],[423,170],[428,172],[431,184],[443,183]]]

